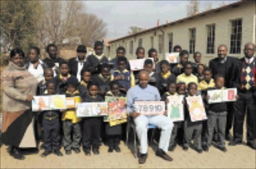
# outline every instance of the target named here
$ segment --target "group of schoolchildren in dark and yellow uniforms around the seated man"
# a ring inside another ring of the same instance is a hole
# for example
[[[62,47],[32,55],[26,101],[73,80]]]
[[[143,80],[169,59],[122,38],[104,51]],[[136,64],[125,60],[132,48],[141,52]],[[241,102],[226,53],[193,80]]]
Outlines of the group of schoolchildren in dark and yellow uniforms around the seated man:
[[[108,61],[102,53],[103,44],[99,41],[94,44],[94,53],[87,56],[86,64],[80,70],[80,81],[70,74],[70,65],[67,61],[59,62],[59,74],[53,77],[52,68],[43,69],[43,80],[38,83],[38,95],[65,94],[66,97],[79,96],[81,102],[100,102],[108,96],[125,96],[127,90],[138,83],[138,72],[130,70],[125,55],[125,48],[119,46],[116,58]],[[175,46],[179,52],[179,62],[170,64],[167,60],[158,61],[157,51],[149,49],[145,59],[144,69],[149,74],[149,84],[158,88],[161,100],[168,103],[169,95],[184,95],[184,121],[174,122],[169,141],[169,150],[173,151],[177,143],[181,143],[184,150],[189,147],[193,139],[195,150],[201,153],[207,151],[211,145],[213,135],[217,134],[215,143],[222,151],[226,151],[224,130],[226,121],[226,104],[207,104],[207,89],[223,88],[224,77],[217,75],[212,79],[211,69],[200,62],[201,54],[194,53],[194,62],[188,61],[187,50]],[[136,49],[136,57],[144,58],[143,47]],[[207,113],[207,120],[192,122],[189,117],[185,97],[201,94]],[[52,151],[62,156],[60,146],[65,154],[80,152],[80,144],[84,154],[89,156],[99,154],[101,141],[108,145],[108,152],[120,152],[118,146],[122,133],[121,124],[110,126],[103,122],[101,116],[78,118],[75,108],[61,110],[43,110],[37,114],[38,135],[41,135],[45,157]],[[101,128],[104,128],[102,131]]]

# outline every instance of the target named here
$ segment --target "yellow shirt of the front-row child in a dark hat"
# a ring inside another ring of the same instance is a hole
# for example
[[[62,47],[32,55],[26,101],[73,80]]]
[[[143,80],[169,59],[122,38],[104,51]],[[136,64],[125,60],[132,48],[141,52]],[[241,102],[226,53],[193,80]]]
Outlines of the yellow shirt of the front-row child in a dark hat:
[[[78,90],[75,90],[73,93],[66,91],[66,97],[72,97],[72,96],[78,96],[78,95],[79,95]],[[67,109],[65,112],[62,113],[61,120],[64,121],[66,119],[70,119],[72,123],[77,123],[81,120],[81,118],[77,118],[74,108]]]

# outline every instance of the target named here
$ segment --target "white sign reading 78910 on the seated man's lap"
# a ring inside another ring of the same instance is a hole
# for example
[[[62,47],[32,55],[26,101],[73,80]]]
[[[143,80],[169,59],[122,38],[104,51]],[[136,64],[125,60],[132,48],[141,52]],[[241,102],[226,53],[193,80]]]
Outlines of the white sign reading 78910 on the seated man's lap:
[[[142,115],[162,115],[165,110],[164,101],[135,101],[135,112]]]

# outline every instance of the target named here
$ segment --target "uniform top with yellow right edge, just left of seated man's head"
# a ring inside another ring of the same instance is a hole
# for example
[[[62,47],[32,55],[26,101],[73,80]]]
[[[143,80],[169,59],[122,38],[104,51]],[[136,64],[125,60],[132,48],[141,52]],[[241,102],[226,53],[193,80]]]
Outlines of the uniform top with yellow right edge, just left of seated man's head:
[[[120,86],[124,86],[128,90],[130,87],[133,87],[135,85],[135,78],[133,73],[131,73],[127,69],[124,69],[123,71],[115,69],[113,72],[113,77],[116,77],[120,74],[124,76],[123,79],[117,80]]]

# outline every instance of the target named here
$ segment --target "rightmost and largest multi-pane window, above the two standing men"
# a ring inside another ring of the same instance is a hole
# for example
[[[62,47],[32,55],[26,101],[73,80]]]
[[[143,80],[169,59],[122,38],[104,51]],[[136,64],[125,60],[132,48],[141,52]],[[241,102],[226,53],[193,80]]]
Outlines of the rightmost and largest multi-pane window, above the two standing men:
[[[241,52],[242,19],[231,21],[230,53]]]

